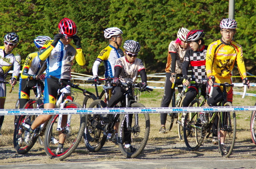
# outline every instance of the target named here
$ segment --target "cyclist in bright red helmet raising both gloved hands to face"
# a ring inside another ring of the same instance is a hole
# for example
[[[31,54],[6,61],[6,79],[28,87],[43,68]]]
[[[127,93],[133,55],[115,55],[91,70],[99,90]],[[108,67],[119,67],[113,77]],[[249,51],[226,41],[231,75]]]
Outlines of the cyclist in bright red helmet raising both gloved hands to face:
[[[73,60],[76,59],[76,62],[81,66],[85,65],[84,54],[81,49],[81,39],[76,35],[76,24],[72,20],[64,18],[60,21],[58,28],[59,34],[54,36],[54,40],[47,41],[39,53],[39,58],[47,62],[44,87],[44,108],[46,109],[55,108],[58,89],[60,87],[58,82],[49,76],[51,75],[59,79],[70,81]],[[72,40],[74,43],[71,43]],[[32,144],[34,130],[50,119],[51,116],[52,115],[39,115],[35,119],[31,127],[25,132],[24,142],[27,145]],[[66,116],[63,118],[65,119]],[[64,139],[64,134],[60,134],[56,154],[62,153]]]

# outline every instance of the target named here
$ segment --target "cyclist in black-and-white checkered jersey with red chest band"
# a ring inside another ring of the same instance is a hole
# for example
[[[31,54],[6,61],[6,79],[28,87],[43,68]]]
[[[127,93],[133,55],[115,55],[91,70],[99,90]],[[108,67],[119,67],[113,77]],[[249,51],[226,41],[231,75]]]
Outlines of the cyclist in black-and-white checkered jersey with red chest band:
[[[188,107],[195,96],[198,94],[198,85],[189,84],[190,77],[188,77],[189,65],[192,69],[192,81],[201,82],[201,79],[207,79],[205,69],[205,59],[208,46],[204,45],[204,30],[192,30],[187,34],[186,40],[189,42],[191,49],[186,51],[183,62],[183,85],[188,86],[189,89],[185,94],[183,101],[183,107]],[[205,96],[206,85],[202,90],[202,94]]]

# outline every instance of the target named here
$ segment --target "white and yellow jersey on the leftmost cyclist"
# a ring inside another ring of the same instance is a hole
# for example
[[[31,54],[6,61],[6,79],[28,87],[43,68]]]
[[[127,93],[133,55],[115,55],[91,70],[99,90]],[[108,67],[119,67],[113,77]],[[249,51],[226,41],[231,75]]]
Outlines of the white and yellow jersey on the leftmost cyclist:
[[[20,55],[12,52],[4,56],[4,46],[0,46],[0,75],[6,77],[13,67],[12,77],[18,79],[20,73]]]

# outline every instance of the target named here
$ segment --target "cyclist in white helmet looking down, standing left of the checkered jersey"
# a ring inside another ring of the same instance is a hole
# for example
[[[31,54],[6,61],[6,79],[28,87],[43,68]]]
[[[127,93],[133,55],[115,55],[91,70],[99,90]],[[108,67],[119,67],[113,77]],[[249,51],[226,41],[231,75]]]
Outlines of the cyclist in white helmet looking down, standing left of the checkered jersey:
[[[169,107],[169,104],[172,99],[173,92],[175,89],[172,89],[172,83],[174,82],[175,75],[182,76],[182,66],[184,55],[187,50],[190,49],[188,42],[186,42],[186,36],[189,33],[189,30],[186,28],[180,28],[177,32],[177,39],[170,42],[168,47],[168,56],[166,63],[166,80],[164,84],[164,94],[161,102],[161,107]],[[172,78],[172,79],[170,79]],[[175,84],[180,85],[182,81],[176,79]],[[182,87],[178,88],[178,91],[181,92]],[[166,117],[167,113],[160,113],[160,122],[161,128],[160,133],[166,133]]]

